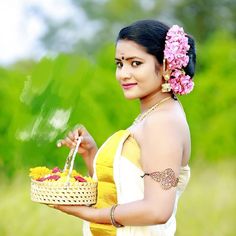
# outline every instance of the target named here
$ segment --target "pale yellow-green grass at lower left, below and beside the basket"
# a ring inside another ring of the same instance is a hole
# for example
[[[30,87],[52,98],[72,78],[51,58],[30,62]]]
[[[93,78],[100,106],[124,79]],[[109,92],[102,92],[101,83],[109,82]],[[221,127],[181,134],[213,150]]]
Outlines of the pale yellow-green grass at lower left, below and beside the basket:
[[[0,186],[0,235],[82,235],[79,218],[30,200],[30,181],[26,178],[20,176],[11,185]]]

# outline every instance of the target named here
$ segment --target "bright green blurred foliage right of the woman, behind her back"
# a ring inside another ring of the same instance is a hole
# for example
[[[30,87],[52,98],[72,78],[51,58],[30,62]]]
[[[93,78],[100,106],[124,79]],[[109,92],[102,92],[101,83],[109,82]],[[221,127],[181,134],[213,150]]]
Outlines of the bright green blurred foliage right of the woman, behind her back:
[[[199,45],[195,89],[183,97],[192,131],[193,157],[236,156],[236,41],[226,32]]]

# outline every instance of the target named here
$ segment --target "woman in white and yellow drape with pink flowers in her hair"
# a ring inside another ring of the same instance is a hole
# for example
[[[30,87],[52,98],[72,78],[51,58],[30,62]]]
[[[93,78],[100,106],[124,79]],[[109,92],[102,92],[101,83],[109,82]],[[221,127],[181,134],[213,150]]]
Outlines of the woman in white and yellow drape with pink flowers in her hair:
[[[139,99],[141,113],[126,130],[98,150],[84,127],[61,145],[73,148],[98,180],[97,204],[55,206],[84,220],[84,235],[174,235],[179,196],[190,176],[190,132],[175,94],[193,89],[193,39],[179,26],[143,20],[117,38],[116,78],[127,99]]]

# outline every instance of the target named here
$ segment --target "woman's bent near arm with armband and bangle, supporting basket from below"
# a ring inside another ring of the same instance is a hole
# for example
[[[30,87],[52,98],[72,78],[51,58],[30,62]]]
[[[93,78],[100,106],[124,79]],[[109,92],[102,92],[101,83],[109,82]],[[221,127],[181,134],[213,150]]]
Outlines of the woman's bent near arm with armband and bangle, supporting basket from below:
[[[178,118],[158,113],[149,117],[143,126],[139,140],[144,172],[152,173],[171,168],[175,177],[183,153],[182,123]],[[114,212],[115,220],[122,225],[163,224],[173,212],[176,188],[165,190],[160,182],[150,176],[144,177],[144,199],[119,205]],[[110,209],[95,209],[86,206],[57,206],[90,222],[110,224]]]

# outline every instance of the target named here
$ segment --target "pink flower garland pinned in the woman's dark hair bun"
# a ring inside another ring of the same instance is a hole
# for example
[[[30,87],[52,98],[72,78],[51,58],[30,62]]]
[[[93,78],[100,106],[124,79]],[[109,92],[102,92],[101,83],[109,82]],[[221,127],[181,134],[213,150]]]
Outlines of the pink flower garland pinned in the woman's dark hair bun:
[[[183,70],[189,62],[189,48],[188,37],[183,28],[173,25],[167,32],[165,41],[163,71],[166,83],[162,85],[163,92],[172,90],[175,94],[184,95],[193,90],[194,82]]]

